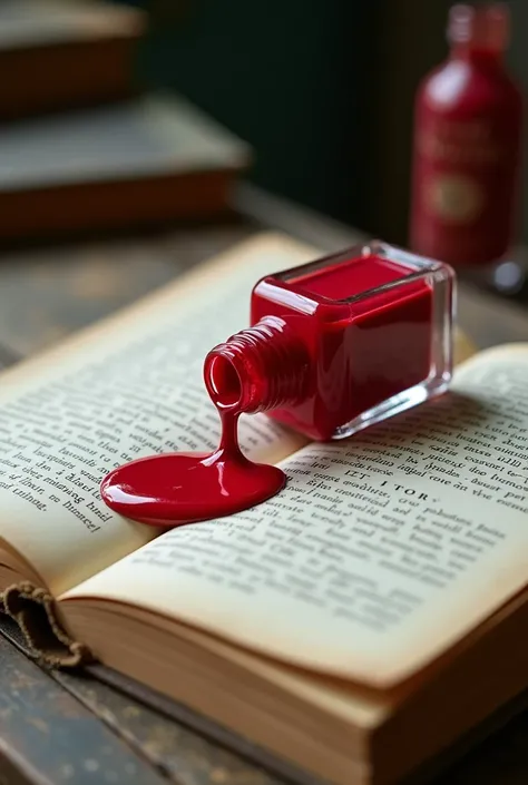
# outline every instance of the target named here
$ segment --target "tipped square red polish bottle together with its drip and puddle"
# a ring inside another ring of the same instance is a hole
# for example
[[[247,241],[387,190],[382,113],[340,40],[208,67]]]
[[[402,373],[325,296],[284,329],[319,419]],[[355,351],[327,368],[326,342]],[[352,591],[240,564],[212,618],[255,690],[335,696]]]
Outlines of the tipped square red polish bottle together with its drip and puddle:
[[[314,440],[344,439],[444,392],[454,283],[449,266],[382,243],[262,278],[252,326],[205,357],[218,448],[120,467],[101,483],[104,501],[157,527],[239,512],[286,482],[281,469],[241,451],[241,414],[265,412]]]

